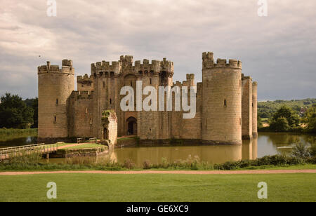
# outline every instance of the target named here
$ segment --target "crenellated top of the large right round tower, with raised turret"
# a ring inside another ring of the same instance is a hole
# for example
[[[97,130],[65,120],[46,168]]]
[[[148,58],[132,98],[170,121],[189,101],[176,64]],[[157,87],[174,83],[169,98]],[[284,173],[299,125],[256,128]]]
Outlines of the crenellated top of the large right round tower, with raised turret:
[[[216,63],[213,59],[213,53],[203,53],[202,54],[202,60],[203,60],[203,69],[209,69],[209,68],[234,68],[234,69],[242,69],[242,62],[239,60],[230,59],[220,59],[218,58],[216,60]]]

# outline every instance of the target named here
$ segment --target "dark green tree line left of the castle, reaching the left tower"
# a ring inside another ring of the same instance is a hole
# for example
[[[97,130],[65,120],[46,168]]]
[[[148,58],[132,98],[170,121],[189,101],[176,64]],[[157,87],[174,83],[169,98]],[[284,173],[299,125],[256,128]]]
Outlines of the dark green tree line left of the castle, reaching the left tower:
[[[37,128],[37,98],[22,100],[19,95],[6,93],[0,100],[0,128]]]

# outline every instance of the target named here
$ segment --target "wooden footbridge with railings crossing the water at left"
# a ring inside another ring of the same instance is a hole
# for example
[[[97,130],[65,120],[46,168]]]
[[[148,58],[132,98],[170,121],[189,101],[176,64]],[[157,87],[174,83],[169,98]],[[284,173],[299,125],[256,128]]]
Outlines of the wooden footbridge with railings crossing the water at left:
[[[13,156],[22,156],[25,154],[50,154],[58,150],[58,144],[29,144],[19,147],[8,147],[0,149],[0,161]]]

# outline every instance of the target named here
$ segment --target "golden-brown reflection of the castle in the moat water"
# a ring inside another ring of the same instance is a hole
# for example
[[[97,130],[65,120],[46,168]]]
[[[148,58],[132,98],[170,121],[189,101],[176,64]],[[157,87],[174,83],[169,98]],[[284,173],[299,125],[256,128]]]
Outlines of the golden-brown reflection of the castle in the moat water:
[[[235,145],[123,148],[115,149],[109,156],[117,162],[124,162],[129,158],[137,166],[142,166],[144,161],[161,163],[162,158],[166,158],[167,161],[177,161],[198,157],[199,161],[211,164],[252,160],[257,158],[257,152],[258,139],[252,139]]]

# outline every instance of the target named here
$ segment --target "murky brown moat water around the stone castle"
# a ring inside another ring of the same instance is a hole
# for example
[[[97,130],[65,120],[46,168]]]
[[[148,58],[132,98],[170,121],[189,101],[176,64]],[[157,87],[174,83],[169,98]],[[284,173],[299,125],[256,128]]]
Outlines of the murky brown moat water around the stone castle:
[[[185,147],[126,147],[115,149],[110,155],[105,155],[118,162],[126,158],[131,159],[137,166],[143,161],[151,163],[161,162],[162,158],[168,161],[187,159],[190,156],[198,156],[201,161],[209,163],[223,163],[226,161],[238,161],[241,159],[253,159],[265,155],[289,153],[295,142],[301,140],[303,144],[316,143],[315,135],[296,135],[291,133],[259,133],[258,138],[252,141],[244,140],[242,145],[219,146],[185,146]],[[12,147],[25,144],[34,144],[37,137],[9,137],[8,140],[0,139],[1,147]],[[281,148],[280,148],[281,147]],[[62,158],[51,158],[51,163],[62,162]]]

